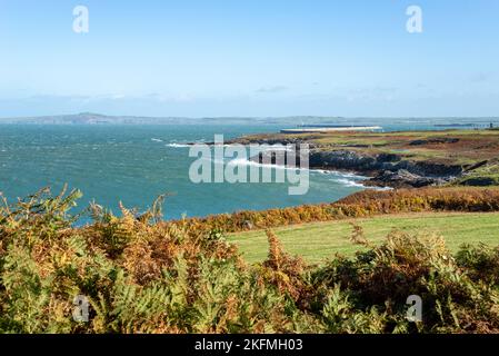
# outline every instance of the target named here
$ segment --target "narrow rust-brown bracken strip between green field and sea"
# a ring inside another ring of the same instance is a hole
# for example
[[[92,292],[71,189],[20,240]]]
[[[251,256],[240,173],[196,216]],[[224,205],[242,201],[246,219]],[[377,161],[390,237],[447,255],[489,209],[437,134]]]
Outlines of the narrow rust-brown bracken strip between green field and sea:
[[[499,211],[499,187],[365,190],[332,204],[192,218],[188,219],[188,226],[198,231],[239,233],[305,222],[425,211]]]

